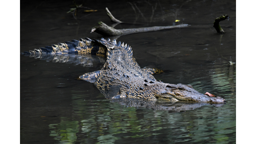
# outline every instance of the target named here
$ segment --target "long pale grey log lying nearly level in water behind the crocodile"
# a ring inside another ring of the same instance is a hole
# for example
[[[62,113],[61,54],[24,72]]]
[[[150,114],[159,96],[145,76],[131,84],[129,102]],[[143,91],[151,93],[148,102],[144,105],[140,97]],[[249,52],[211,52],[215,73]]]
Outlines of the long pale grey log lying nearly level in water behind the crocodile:
[[[149,31],[158,31],[163,29],[171,29],[171,28],[181,28],[181,27],[187,27],[188,24],[180,24],[175,26],[154,26],[154,27],[146,27],[146,28],[133,28],[133,29],[115,29],[113,27],[110,27],[103,22],[98,22],[98,26],[92,28],[92,32],[96,32],[98,34],[101,34],[103,36],[116,36],[116,35],[127,35],[132,33],[139,33],[139,32],[149,32]]]

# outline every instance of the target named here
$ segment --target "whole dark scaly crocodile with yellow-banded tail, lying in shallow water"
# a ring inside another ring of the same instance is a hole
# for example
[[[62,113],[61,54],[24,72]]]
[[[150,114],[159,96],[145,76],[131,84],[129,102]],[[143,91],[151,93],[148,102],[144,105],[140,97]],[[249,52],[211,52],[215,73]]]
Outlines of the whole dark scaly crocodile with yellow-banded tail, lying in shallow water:
[[[209,97],[193,89],[191,85],[169,84],[157,81],[153,74],[156,69],[140,68],[133,57],[132,48],[116,40],[91,40],[89,38],[72,40],[24,52],[31,57],[37,55],[84,55],[92,54],[106,57],[103,68],[98,71],[85,73],[78,79],[92,82],[106,98],[135,98],[156,101],[157,99],[170,102],[188,101],[200,103],[222,104],[225,99]],[[52,58],[54,59],[54,58]],[[65,60],[68,61],[68,60]]]

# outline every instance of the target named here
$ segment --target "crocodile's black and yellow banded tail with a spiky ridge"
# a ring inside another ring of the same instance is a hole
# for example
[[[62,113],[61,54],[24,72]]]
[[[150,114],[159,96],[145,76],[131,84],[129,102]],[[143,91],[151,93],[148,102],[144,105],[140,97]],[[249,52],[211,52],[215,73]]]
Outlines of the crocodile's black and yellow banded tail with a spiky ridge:
[[[107,57],[107,47],[98,40],[91,40],[89,38],[72,40],[72,42],[58,43],[57,45],[45,46],[45,48],[39,48],[24,52],[32,57],[43,54],[92,54],[101,57]],[[23,53],[22,53],[23,54]]]

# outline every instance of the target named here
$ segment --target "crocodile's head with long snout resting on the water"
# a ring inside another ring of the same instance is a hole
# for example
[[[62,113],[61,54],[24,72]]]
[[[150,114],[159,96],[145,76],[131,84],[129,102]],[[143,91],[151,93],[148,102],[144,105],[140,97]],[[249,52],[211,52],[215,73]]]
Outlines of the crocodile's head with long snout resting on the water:
[[[221,97],[209,97],[203,95],[193,89],[191,85],[184,84],[168,84],[162,83],[164,88],[159,89],[156,93],[158,99],[164,99],[169,101],[190,101],[190,102],[200,102],[200,103],[212,103],[221,104],[226,103],[226,100]]]

